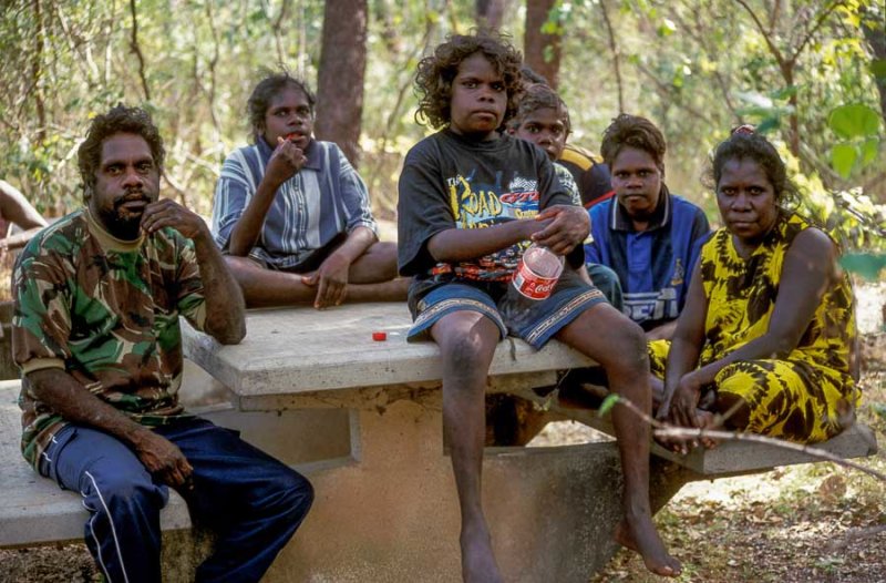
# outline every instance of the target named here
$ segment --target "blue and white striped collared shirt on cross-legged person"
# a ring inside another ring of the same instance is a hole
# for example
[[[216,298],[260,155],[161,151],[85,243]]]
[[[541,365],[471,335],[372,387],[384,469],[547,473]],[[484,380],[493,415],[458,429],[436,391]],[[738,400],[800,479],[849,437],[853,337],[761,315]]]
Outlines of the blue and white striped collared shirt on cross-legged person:
[[[213,235],[227,250],[230,232],[265,176],[271,147],[234,151],[222,166],[213,204]],[[378,234],[369,193],[360,175],[332,142],[311,140],[301,171],[277,190],[249,256],[277,269],[298,266],[341,233],[364,226]]]

